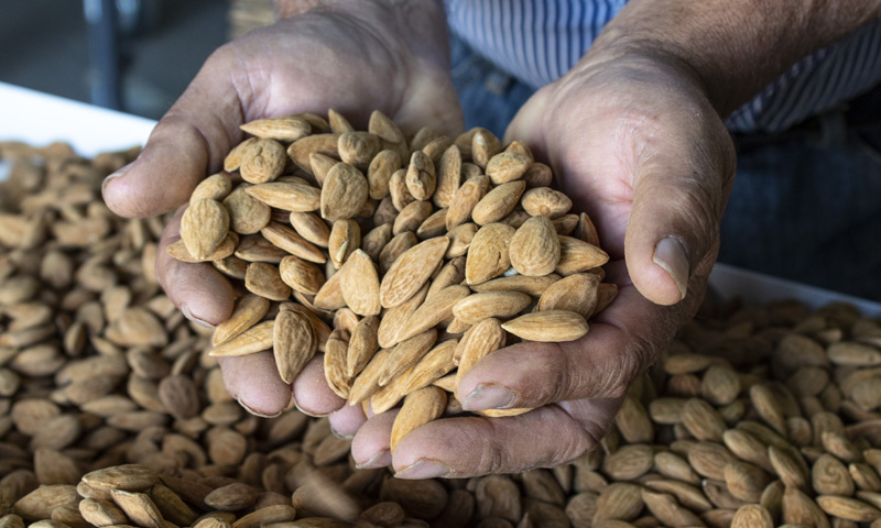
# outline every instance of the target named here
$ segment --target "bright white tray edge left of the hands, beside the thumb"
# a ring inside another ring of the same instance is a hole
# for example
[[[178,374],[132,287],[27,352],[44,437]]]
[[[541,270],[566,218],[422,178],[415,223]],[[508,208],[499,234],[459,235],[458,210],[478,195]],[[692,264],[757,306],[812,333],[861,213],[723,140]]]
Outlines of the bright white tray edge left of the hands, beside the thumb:
[[[143,145],[150,119],[0,82],[0,141],[66,141],[83,156]]]

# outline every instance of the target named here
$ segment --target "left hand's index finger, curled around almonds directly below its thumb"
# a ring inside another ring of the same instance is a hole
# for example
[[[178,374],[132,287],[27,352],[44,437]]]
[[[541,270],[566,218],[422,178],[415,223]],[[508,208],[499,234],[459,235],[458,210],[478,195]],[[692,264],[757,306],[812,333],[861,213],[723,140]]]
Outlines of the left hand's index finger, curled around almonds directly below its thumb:
[[[174,305],[192,321],[215,327],[229,319],[236,298],[224,275],[207,263],[181,262],[166,249],[181,238],[181,207],[165,226],[156,255],[156,278]]]

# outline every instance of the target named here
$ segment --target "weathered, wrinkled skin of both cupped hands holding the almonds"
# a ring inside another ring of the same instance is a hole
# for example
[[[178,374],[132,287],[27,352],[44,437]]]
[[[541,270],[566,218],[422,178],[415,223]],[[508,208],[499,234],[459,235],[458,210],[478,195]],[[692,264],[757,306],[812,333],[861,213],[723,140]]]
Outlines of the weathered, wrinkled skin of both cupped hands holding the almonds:
[[[334,108],[363,129],[378,108],[405,131],[429,123],[458,133],[461,114],[445,57],[404,51],[398,42],[345,15],[311,14],[220,48],[135,164],[106,184],[108,205],[124,216],[180,207],[241,140],[238,125],[262,117]],[[325,385],[317,360],[292,388],[279,378],[269,352],[226,359],[221,369],[230,393],[252,413],[273,416],[293,391],[301,409],[333,413],[335,431],[355,435],[359,465],[391,464],[401,477],[522,471],[563,463],[596,447],[629,384],[697,309],[718,250],[733,148],[687,68],[667,57],[633,54],[583,61],[523,107],[507,139],[526,141],[551,163],[575,208],[591,216],[612,257],[608,277],[620,288],[586,337],[500,350],[459,386],[472,410],[488,408],[492,393],[497,402],[489,407],[536,410],[492,420],[437,420],[403,439],[392,457],[395,411],[368,419],[360,406],[344,405]],[[180,212],[161,250],[177,240]],[[655,245],[668,238],[684,250],[678,273],[688,278],[678,284],[653,261]],[[229,316],[233,294],[219,273],[175,262],[164,251],[160,255],[160,280],[187,317],[217,324]],[[491,391],[500,387],[508,397]],[[472,392],[483,397],[482,405]]]

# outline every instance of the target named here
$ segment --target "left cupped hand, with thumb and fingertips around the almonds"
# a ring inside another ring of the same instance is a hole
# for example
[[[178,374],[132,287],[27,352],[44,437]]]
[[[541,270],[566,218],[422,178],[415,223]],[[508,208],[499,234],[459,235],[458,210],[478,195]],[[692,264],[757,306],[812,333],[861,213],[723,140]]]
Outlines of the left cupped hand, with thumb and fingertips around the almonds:
[[[219,48],[159,122],[138,160],[105,182],[108,206],[124,217],[181,207],[242,140],[239,125],[254,119],[324,114],[334,108],[367,130],[370,112],[379,109],[405,132],[429,123],[455,136],[463,118],[448,74],[443,7],[429,0],[399,3],[334,2]],[[156,273],[187,318],[216,326],[231,314],[230,284],[209,264],[181,263],[164,251],[180,238],[182,211],[163,233]],[[252,413],[276,415],[291,402],[292,387],[279,376],[271,352],[221,359],[220,366],[231,395]],[[312,415],[344,404],[324,383],[317,359],[293,393]],[[363,417],[346,406],[336,419],[351,428]]]

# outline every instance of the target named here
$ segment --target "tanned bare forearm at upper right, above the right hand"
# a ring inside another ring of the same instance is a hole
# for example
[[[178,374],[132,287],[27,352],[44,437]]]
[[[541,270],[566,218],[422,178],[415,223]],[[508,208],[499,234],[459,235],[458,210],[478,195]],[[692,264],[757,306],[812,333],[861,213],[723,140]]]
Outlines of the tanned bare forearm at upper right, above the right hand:
[[[727,116],[792,64],[881,14],[881,0],[631,0],[584,63],[648,53],[679,59]]]

